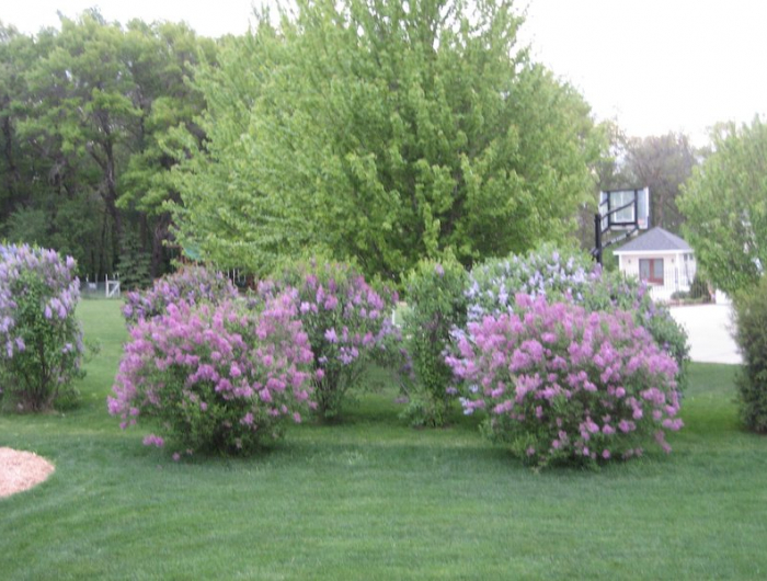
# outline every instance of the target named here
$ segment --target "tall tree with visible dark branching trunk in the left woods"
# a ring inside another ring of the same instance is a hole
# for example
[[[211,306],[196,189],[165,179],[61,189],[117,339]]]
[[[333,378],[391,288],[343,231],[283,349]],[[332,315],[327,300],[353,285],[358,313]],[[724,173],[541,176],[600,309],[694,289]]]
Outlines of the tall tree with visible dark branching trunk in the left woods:
[[[131,79],[122,58],[123,31],[95,12],[61,19],[54,48],[27,71],[28,115],[22,135],[45,144],[56,160],[59,196],[98,194],[115,239],[123,233],[117,175],[125,140],[139,115],[127,93]]]

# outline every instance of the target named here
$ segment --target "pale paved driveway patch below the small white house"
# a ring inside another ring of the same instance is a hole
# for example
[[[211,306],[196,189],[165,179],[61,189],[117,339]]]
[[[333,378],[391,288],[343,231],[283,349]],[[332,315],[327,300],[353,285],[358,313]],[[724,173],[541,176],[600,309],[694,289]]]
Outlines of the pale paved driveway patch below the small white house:
[[[707,363],[742,363],[732,339],[730,305],[695,305],[673,307],[672,317],[687,329],[692,361]]]

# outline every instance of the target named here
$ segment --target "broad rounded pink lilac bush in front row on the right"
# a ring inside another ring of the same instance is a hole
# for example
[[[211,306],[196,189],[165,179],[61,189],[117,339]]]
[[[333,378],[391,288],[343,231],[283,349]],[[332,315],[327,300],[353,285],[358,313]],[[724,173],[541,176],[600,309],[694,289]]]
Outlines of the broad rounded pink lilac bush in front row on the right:
[[[628,458],[650,436],[671,451],[665,433],[682,426],[677,364],[630,314],[514,301],[470,322],[446,360],[468,385],[465,413],[482,410],[489,435],[538,466]]]

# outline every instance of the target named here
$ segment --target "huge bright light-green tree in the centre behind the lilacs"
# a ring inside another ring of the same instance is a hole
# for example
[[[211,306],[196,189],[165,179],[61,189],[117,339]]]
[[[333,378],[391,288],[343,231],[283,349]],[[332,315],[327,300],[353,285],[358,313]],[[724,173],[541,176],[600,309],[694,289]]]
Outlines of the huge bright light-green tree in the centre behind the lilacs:
[[[204,148],[179,172],[179,236],[268,270],[306,247],[398,277],[562,241],[600,141],[580,94],[517,46],[511,2],[297,2],[197,76]]]

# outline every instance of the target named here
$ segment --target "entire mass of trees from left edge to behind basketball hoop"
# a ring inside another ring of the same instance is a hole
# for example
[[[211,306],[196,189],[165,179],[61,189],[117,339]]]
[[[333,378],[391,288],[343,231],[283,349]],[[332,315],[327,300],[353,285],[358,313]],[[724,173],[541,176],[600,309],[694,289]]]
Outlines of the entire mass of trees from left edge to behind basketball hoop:
[[[0,25],[0,235],[130,285],[171,240],[256,275],[323,252],[396,281],[423,257],[591,248],[600,189],[650,185],[678,232],[689,139],[595,124],[522,25],[461,0],[300,0],[219,41],[95,10]]]

